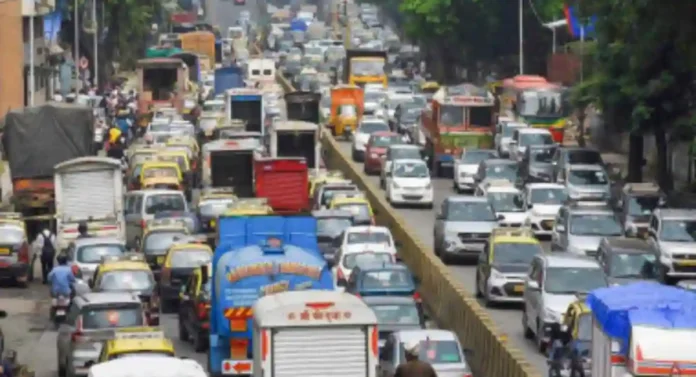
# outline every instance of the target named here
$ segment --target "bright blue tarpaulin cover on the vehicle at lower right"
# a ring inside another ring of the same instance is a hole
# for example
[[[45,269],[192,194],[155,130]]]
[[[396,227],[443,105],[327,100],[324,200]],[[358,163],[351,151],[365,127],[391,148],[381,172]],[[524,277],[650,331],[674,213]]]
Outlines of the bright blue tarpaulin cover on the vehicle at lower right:
[[[696,328],[696,293],[655,282],[596,289],[587,305],[598,326],[628,346],[631,326]]]

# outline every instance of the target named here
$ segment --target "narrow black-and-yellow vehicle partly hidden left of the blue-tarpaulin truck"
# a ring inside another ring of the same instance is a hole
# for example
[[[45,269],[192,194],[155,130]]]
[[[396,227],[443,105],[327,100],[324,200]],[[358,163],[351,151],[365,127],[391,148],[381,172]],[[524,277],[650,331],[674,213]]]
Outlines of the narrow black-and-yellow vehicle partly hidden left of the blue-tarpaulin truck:
[[[568,305],[562,319],[561,330],[566,331],[570,355],[570,375],[589,376],[591,371],[592,311],[585,303],[585,296]]]

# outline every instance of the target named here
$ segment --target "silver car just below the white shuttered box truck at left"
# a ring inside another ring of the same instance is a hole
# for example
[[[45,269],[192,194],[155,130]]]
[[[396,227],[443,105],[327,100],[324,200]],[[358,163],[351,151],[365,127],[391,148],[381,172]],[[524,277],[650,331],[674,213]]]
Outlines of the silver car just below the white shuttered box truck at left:
[[[123,240],[110,237],[78,238],[68,247],[68,261],[77,266],[87,283],[106,256],[120,256],[126,252]]]

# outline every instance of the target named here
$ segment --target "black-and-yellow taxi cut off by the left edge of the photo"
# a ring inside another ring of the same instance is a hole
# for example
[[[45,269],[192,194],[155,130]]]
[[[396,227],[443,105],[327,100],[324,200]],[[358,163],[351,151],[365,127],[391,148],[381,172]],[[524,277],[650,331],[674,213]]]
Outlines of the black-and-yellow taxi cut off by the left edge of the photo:
[[[21,214],[0,215],[0,279],[12,280],[20,287],[34,279],[27,228]]]

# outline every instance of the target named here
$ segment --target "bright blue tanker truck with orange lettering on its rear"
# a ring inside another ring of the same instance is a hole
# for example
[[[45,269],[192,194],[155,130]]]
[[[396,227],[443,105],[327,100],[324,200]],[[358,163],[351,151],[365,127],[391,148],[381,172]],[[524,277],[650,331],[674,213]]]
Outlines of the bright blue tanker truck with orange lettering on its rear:
[[[251,307],[259,297],[335,289],[310,216],[221,217],[211,279],[208,372],[214,377],[253,373]]]

